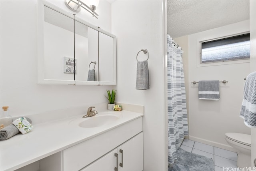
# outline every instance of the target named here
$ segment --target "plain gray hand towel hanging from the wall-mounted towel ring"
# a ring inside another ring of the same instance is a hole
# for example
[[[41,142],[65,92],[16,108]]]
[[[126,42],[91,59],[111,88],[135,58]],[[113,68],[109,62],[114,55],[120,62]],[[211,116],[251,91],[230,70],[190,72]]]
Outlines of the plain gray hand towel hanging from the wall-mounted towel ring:
[[[137,62],[136,89],[149,89],[148,61]]]

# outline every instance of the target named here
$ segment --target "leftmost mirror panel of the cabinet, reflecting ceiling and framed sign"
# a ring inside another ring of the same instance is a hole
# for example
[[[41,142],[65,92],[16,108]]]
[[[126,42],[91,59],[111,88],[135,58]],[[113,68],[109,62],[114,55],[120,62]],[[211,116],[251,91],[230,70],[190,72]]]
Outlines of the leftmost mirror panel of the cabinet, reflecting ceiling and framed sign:
[[[72,18],[45,6],[44,77],[47,80],[74,80],[73,25]]]

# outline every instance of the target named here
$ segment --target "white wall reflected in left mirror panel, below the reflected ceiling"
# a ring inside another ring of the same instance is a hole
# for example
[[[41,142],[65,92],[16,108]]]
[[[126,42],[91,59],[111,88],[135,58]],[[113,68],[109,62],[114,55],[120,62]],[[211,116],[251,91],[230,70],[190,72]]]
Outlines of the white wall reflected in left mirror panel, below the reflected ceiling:
[[[64,62],[62,62],[64,57],[74,59],[74,31],[70,32],[48,22],[44,23],[44,30],[44,67],[47,68],[45,69],[44,78],[50,80],[74,80],[74,74],[63,72]]]

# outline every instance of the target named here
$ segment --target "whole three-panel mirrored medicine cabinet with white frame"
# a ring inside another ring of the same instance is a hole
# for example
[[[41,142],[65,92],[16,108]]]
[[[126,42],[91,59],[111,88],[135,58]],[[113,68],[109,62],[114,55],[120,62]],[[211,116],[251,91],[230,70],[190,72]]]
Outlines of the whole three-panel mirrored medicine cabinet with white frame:
[[[116,36],[39,0],[38,84],[116,85]]]

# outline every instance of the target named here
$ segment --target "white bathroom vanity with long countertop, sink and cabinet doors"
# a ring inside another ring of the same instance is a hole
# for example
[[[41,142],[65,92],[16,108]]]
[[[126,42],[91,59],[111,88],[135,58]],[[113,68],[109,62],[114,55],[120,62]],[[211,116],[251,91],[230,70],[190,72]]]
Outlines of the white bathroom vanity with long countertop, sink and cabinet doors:
[[[0,171],[142,171],[143,113],[99,111],[0,141]]]

